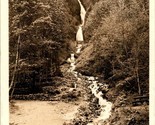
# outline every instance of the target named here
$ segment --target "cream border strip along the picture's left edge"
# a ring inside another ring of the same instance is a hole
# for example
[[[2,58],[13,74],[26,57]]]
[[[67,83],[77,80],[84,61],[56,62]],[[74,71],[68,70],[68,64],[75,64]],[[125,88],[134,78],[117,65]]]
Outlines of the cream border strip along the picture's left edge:
[[[9,125],[8,101],[8,0],[1,0],[1,125]]]

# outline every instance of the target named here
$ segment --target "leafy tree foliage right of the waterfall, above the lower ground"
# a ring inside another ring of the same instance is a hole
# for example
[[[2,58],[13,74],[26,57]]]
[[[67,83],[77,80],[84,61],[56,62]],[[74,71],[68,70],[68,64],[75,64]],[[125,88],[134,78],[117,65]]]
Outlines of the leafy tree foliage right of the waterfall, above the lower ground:
[[[88,44],[94,46],[92,57],[87,57],[88,67],[91,65],[88,70],[92,68],[94,74],[104,75],[114,85],[134,77],[129,91],[135,88],[139,88],[139,94],[140,88],[145,88],[142,93],[148,91],[148,12],[147,0],[100,0],[96,3],[85,26]],[[122,77],[115,79],[118,74]]]

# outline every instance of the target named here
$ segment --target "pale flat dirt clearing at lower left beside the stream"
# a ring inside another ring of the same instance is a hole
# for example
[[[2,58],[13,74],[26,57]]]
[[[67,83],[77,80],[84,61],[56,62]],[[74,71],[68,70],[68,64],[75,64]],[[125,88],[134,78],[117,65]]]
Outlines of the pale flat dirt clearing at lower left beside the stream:
[[[15,101],[10,106],[11,125],[63,125],[75,117],[79,105],[48,101]]]

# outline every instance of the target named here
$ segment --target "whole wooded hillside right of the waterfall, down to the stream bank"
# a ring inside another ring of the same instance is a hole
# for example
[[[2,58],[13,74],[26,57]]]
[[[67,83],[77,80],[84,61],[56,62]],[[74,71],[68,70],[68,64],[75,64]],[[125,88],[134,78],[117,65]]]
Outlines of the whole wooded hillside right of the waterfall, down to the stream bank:
[[[108,123],[148,124],[148,108],[130,108],[135,96],[149,93],[148,1],[99,0],[88,13],[84,37],[76,70],[111,88],[106,97],[114,102],[114,112]],[[133,116],[125,118],[129,111]]]

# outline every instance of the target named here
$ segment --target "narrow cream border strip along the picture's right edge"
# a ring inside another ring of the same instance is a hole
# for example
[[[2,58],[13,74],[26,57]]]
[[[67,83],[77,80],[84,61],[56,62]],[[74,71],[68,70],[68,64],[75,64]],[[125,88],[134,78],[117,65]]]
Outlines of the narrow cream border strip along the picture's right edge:
[[[150,125],[155,125],[155,1],[150,0]]]

